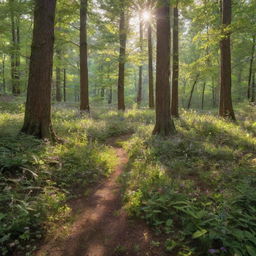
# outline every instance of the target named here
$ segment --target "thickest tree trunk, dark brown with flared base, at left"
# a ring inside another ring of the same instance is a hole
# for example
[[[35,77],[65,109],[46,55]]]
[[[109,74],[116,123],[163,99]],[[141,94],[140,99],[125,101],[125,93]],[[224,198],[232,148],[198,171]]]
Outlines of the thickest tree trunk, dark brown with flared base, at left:
[[[56,140],[51,124],[51,80],[53,66],[56,0],[36,0],[29,81],[22,132]]]

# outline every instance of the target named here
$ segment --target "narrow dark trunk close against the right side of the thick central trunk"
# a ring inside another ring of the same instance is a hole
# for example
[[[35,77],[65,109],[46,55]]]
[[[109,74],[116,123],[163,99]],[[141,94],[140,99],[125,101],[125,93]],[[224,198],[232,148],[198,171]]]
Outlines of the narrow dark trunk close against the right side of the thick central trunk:
[[[179,10],[173,8],[173,64],[172,64],[172,100],[171,114],[179,117]]]

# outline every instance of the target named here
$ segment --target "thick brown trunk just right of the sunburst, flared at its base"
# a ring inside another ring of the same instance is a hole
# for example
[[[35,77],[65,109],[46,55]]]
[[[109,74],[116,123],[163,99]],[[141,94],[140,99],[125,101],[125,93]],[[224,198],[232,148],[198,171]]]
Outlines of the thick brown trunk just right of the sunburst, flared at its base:
[[[156,124],[153,134],[175,133],[170,109],[170,1],[158,0],[156,60]]]

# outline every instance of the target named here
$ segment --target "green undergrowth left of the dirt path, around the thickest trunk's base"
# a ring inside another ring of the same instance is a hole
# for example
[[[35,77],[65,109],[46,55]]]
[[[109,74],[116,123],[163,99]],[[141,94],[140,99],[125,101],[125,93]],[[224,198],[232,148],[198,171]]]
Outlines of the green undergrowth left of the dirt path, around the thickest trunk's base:
[[[87,139],[101,121],[56,110],[54,123],[65,142],[52,145],[17,135],[23,119],[18,106],[10,103],[0,115],[1,255],[35,250],[36,240],[68,220],[67,199],[87,194],[116,165],[113,149],[97,142],[106,135],[98,131],[93,141]]]

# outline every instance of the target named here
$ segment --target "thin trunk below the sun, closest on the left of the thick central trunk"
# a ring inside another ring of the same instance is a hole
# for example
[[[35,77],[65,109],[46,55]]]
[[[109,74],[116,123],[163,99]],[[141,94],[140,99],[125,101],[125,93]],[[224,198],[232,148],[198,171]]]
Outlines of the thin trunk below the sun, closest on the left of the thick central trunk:
[[[153,77],[153,45],[152,45],[152,26],[148,23],[148,105],[149,108],[155,107],[154,100],[154,77]]]

